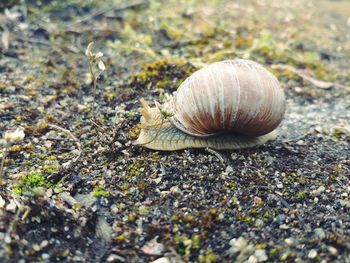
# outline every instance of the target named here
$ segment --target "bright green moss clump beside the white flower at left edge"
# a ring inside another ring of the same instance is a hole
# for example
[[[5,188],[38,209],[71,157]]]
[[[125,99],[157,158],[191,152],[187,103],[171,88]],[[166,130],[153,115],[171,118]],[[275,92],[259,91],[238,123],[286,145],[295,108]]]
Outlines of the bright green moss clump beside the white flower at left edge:
[[[32,172],[23,176],[12,191],[18,195],[22,195],[25,192],[32,191],[35,187],[48,187],[50,183],[46,182],[42,173]]]

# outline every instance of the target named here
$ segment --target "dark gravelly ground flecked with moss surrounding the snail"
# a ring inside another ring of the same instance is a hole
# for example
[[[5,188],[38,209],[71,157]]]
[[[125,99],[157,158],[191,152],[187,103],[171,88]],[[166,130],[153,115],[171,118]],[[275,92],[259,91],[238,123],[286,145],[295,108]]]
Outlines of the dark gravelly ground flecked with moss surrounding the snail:
[[[0,261],[350,262],[349,15],[347,0],[0,4],[0,134],[25,132],[0,148]],[[237,57],[285,90],[275,141],[133,145],[140,98]]]

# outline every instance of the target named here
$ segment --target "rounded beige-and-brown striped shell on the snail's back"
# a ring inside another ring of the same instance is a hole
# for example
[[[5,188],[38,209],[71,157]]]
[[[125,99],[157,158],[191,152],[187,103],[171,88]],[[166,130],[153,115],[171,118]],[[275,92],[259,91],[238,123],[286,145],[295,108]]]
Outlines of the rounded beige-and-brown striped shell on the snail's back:
[[[237,132],[262,135],[274,130],[285,112],[277,79],[256,62],[217,62],[187,78],[174,95],[172,123],[187,134]]]

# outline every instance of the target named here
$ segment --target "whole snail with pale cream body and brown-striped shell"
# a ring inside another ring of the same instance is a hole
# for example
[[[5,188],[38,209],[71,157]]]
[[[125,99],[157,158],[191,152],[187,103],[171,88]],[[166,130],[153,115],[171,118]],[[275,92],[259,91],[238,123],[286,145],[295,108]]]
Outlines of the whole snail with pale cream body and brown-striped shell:
[[[135,144],[162,151],[242,149],[277,136],[285,96],[276,77],[246,59],[208,65],[188,77],[169,102],[151,108],[141,99]]]

